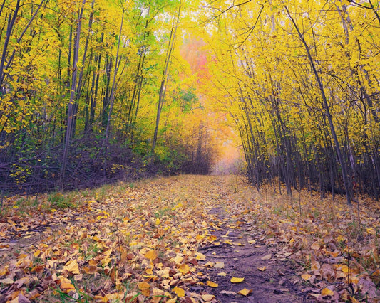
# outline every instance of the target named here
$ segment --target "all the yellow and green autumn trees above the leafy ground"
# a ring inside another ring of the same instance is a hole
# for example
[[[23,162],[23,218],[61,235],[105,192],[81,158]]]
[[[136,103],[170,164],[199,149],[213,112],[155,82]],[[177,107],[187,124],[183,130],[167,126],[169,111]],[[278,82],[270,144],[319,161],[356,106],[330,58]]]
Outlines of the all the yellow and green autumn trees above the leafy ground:
[[[5,188],[207,174],[239,145],[257,188],[379,197],[377,2],[4,0],[0,16]]]

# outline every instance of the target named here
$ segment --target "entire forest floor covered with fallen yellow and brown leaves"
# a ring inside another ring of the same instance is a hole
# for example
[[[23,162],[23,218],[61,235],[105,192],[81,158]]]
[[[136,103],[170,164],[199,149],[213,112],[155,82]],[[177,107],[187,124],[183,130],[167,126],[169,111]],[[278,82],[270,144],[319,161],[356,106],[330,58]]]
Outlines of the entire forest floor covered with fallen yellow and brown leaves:
[[[296,196],[173,176],[7,198],[0,302],[380,302],[379,202]]]

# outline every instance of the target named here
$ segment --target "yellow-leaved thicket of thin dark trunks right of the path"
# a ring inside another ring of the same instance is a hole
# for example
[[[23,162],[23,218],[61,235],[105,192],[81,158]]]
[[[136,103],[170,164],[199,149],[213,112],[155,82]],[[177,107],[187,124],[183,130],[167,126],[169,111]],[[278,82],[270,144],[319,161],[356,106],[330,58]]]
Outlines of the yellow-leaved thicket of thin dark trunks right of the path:
[[[379,198],[379,2],[212,1],[205,18],[207,93],[237,125],[250,181]]]

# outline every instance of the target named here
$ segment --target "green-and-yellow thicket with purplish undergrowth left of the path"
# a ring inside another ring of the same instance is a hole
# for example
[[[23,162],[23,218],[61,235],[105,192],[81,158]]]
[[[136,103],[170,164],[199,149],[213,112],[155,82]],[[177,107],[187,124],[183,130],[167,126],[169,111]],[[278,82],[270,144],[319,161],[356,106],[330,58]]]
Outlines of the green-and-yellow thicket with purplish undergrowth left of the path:
[[[207,172],[185,18],[174,0],[1,1],[0,190]]]

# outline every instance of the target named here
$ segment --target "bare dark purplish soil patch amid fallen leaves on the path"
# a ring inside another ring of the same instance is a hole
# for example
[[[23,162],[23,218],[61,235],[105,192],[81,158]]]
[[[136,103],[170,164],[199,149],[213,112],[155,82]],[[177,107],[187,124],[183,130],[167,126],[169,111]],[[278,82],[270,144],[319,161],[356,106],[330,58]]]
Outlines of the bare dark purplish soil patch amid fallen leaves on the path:
[[[227,213],[220,207],[212,208],[210,213],[221,222],[217,229],[210,230],[211,235],[221,241],[219,245],[208,245],[199,251],[207,257],[204,264],[222,262],[225,267],[205,267],[205,286],[193,286],[193,292],[214,294],[220,303],[314,302],[307,296],[316,289],[302,285],[296,275],[297,270],[301,270],[299,265],[284,256],[279,247],[265,245],[262,233],[255,225],[227,218]],[[230,228],[236,225],[239,228]],[[225,272],[225,277],[218,275],[220,272]],[[232,277],[244,277],[244,281],[231,283]],[[217,283],[218,287],[207,286],[207,280]],[[244,288],[252,292],[247,296],[237,294]]]

